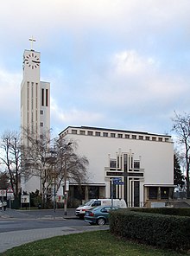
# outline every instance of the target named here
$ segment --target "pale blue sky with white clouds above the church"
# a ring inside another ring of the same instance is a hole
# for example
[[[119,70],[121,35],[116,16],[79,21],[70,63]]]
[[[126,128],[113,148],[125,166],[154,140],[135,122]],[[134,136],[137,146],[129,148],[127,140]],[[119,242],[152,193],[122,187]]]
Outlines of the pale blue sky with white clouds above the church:
[[[51,128],[171,134],[189,112],[189,0],[6,0],[0,8],[0,131],[20,127],[22,54],[36,39]]]

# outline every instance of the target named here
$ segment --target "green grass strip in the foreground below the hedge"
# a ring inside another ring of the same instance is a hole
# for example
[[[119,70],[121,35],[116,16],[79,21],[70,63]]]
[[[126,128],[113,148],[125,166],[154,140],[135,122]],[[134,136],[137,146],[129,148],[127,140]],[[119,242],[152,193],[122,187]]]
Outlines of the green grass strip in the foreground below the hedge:
[[[142,255],[187,255],[170,250],[161,250],[152,246],[136,244],[135,242],[116,238],[109,230],[69,234],[54,238],[37,240],[22,246],[16,246],[4,253],[3,256],[142,256]],[[189,255],[189,254],[188,254]]]

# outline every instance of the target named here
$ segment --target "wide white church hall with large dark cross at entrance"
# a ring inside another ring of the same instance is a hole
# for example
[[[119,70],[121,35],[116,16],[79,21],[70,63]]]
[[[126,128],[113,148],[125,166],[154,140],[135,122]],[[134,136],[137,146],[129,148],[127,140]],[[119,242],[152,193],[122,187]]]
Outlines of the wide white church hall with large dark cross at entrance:
[[[73,202],[121,198],[128,207],[161,206],[174,190],[174,144],[171,136],[88,126],[68,126],[60,138],[76,141],[89,161],[87,180],[70,182]],[[72,202],[71,202],[72,204]]]

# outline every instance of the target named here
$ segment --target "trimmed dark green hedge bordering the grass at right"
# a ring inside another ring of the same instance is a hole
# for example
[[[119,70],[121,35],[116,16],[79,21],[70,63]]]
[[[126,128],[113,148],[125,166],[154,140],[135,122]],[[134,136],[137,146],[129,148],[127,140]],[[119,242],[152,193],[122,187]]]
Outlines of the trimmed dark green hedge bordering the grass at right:
[[[152,246],[174,250],[190,249],[188,216],[152,214],[133,208],[118,210],[110,214],[110,230],[117,236]]]

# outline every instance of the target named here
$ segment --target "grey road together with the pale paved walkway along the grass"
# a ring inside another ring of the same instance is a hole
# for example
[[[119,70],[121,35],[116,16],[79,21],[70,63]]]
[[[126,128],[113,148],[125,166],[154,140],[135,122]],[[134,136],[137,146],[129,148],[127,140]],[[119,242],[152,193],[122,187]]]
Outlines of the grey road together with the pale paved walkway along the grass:
[[[109,229],[108,225],[91,226],[75,217],[74,210],[0,210],[0,253],[22,244],[86,231]]]

